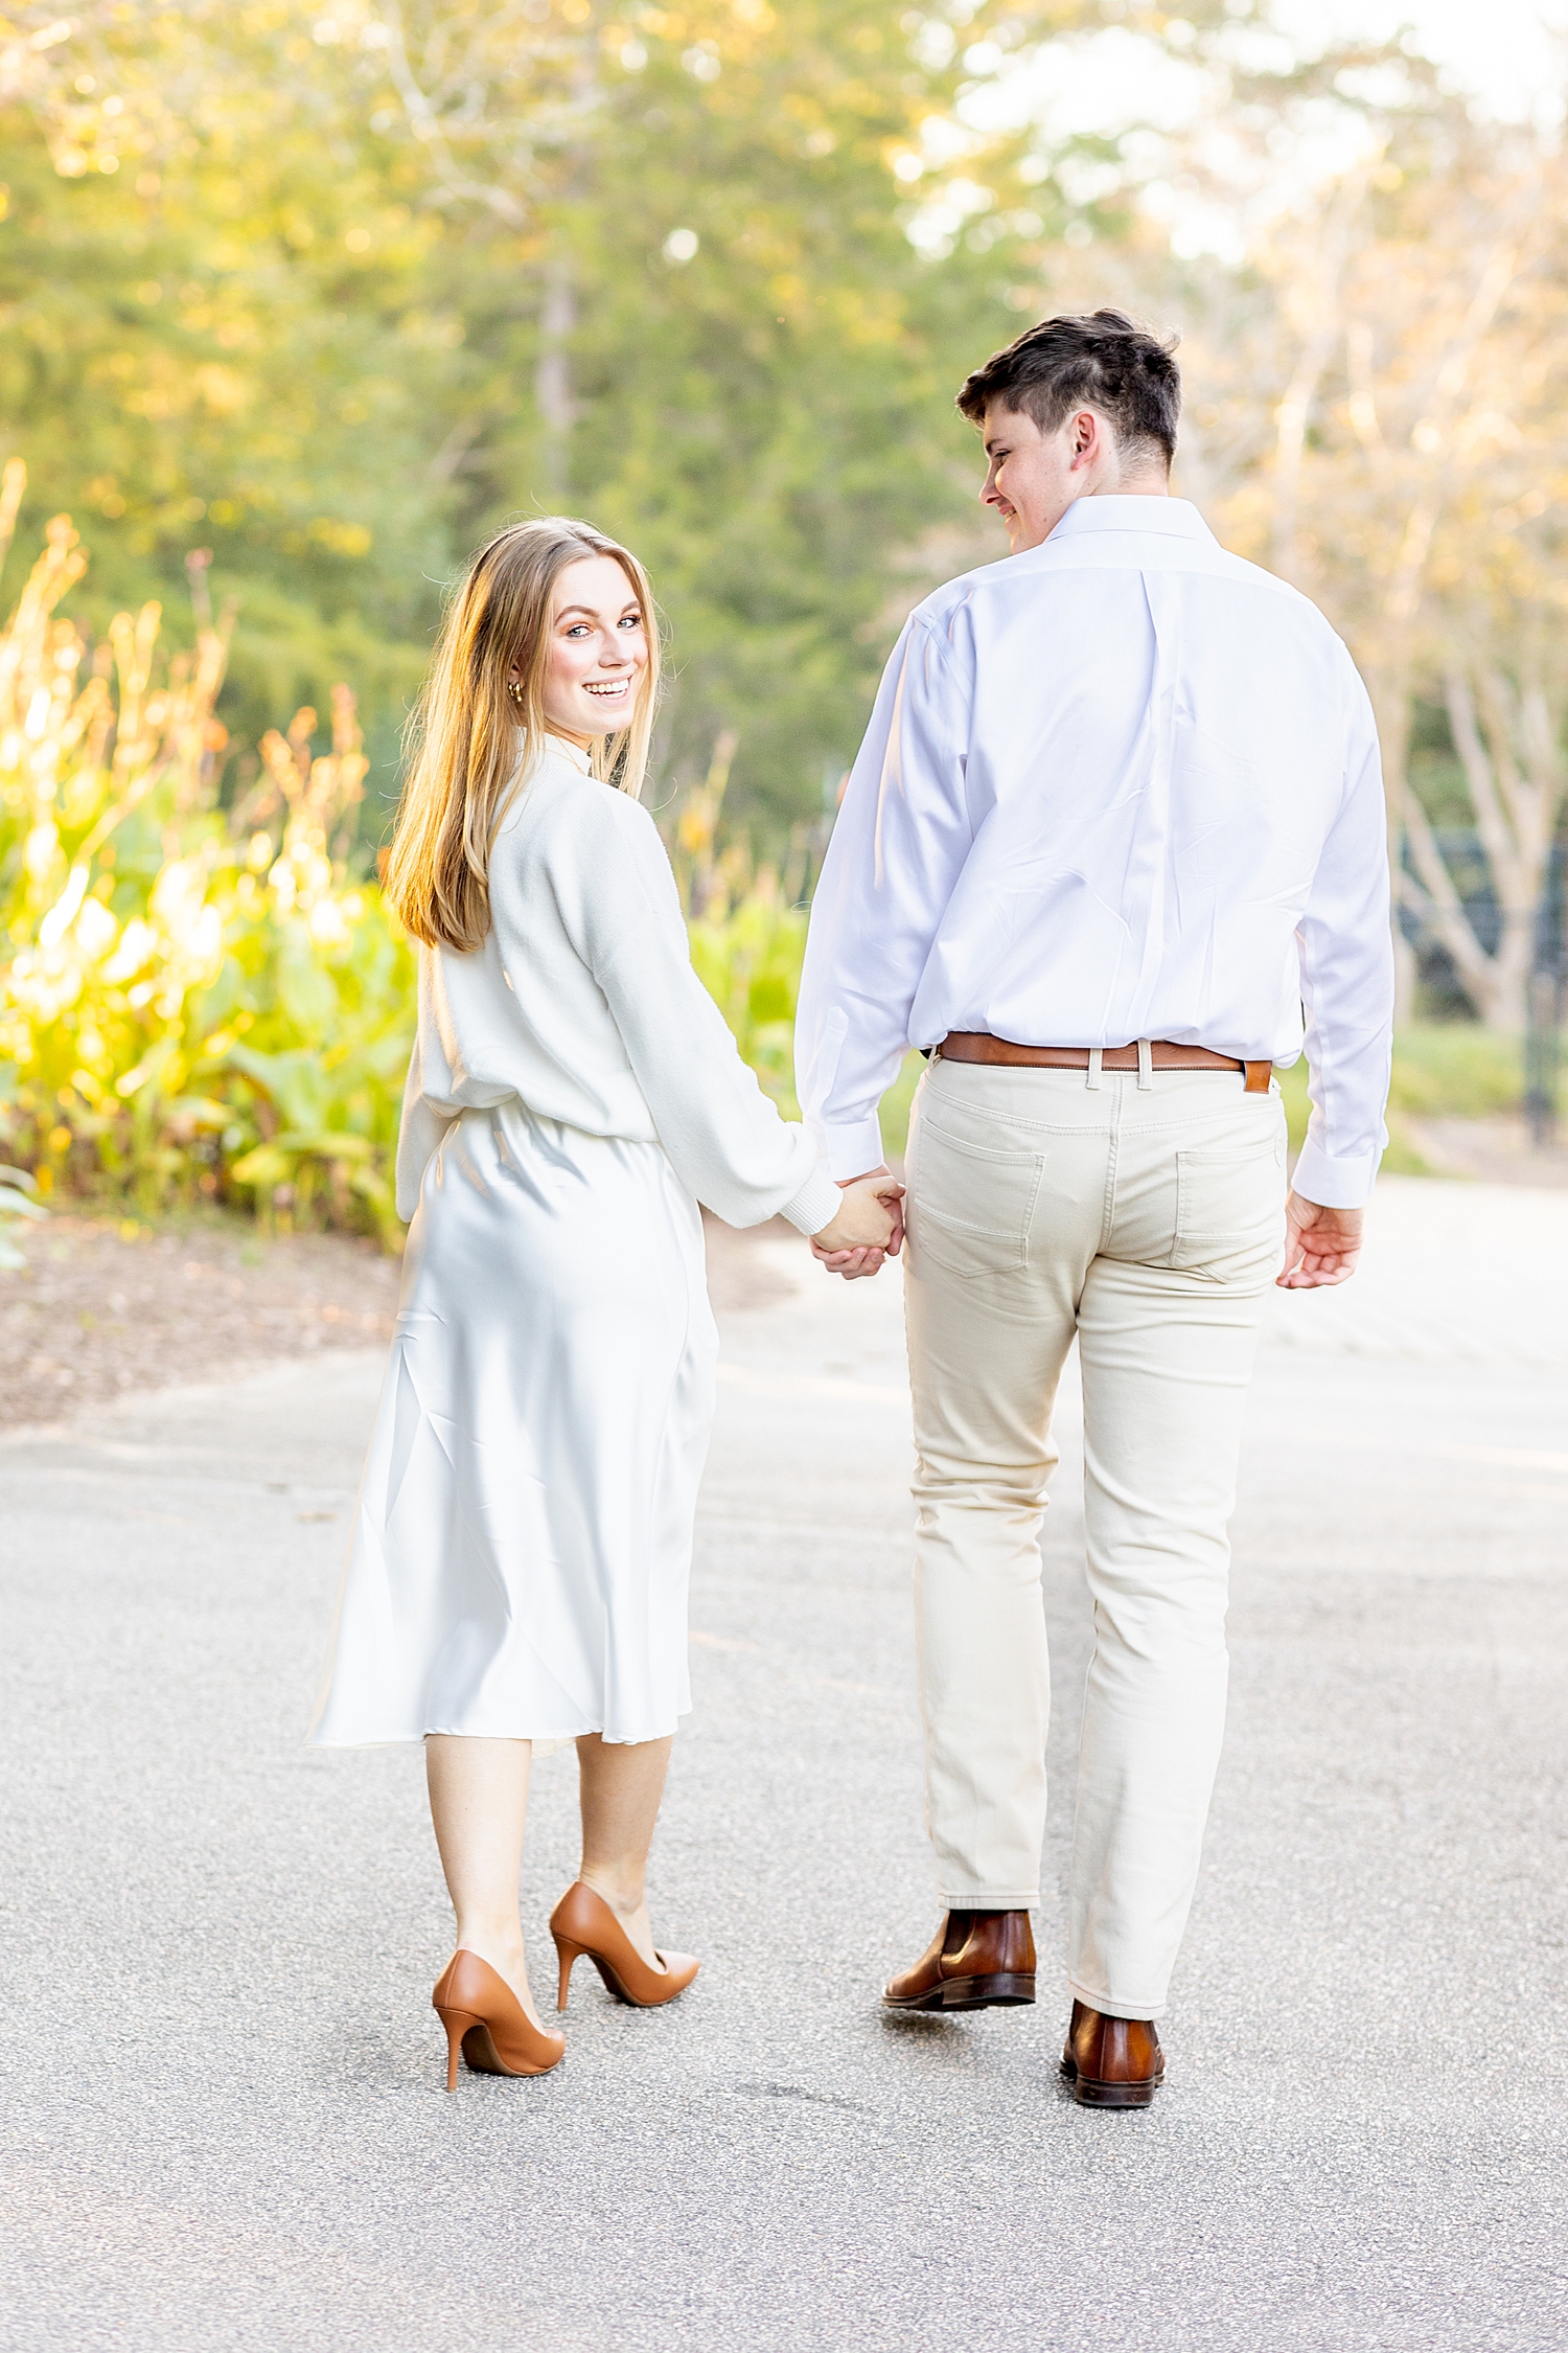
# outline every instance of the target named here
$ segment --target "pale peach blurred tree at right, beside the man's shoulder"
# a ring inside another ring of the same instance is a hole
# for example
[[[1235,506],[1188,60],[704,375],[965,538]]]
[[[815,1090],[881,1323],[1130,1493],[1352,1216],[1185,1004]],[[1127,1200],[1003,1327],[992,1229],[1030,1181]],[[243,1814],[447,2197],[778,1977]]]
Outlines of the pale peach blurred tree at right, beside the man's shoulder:
[[[1227,431],[1199,416],[1192,454],[1227,544],[1361,666],[1410,929],[1523,1031],[1568,814],[1568,165],[1415,56],[1382,59],[1371,96],[1338,82],[1349,158],[1255,226],[1246,268],[1208,273],[1190,348]],[[1284,89],[1253,106],[1258,144]]]

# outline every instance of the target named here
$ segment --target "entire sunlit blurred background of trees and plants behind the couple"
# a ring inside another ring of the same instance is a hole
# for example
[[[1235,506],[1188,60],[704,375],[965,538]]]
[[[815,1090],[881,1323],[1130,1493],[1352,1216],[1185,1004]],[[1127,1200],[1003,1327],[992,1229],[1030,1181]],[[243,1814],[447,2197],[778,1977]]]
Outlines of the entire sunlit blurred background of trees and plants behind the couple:
[[[1098,301],[1180,336],[1178,489],[1373,689],[1394,1165],[1549,1169],[1559,21],[2,9],[0,1247],[73,1198],[397,1245],[409,953],[374,852],[442,588],[520,513],[583,513],[654,572],[651,800],[698,967],[790,1101],[877,671],[1001,553],[954,386]]]

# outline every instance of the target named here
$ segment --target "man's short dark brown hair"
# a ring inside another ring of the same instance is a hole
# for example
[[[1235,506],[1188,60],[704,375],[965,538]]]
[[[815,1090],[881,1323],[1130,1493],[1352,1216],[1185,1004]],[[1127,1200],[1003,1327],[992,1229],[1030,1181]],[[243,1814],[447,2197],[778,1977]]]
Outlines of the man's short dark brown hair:
[[[1161,344],[1126,311],[1093,318],[1041,318],[985,367],[964,376],[959,414],[985,424],[994,400],[1032,416],[1041,433],[1077,409],[1100,409],[1126,456],[1161,449],[1175,456],[1175,419],[1182,412],[1182,376],[1171,358],[1175,339]]]

